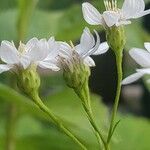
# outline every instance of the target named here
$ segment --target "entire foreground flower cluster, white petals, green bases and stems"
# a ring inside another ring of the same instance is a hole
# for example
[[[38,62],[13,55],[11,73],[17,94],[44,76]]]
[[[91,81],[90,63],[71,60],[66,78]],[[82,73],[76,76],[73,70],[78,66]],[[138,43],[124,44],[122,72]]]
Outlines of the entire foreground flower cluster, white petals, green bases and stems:
[[[121,9],[117,6],[117,0],[104,0],[106,11],[102,14],[90,3],[82,4],[83,17],[91,25],[102,25],[106,31],[107,42],[100,43],[100,37],[96,34],[96,39],[85,27],[80,38],[80,43],[73,45],[62,41],[56,41],[54,37],[49,40],[32,38],[26,44],[22,42],[16,47],[13,42],[2,41],[0,45],[0,73],[12,71],[17,74],[17,83],[20,90],[28,95],[35,104],[61,128],[64,133],[71,137],[84,150],[86,148],[65,128],[59,119],[49,111],[39,97],[40,76],[37,67],[50,69],[52,71],[63,70],[66,84],[73,88],[82,101],[87,118],[94,129],[99,144],[101,141],[105,150],[109,149],[109,143],[114,130],[119,122],[115,122],[122,81],[122,56],[126,43],[124,25],[130,24],[131,19],[136,19],[150,14],[150,9],[145,10],[144,0],[125,0]],[[112,109],[112,117],[105,140],[103,134],[98,129],[94,121],[90,104],[88,80],[90,67],[95,66],[91,55],[101,55],[106,53],[109,47],[116,56],[118,72],[118,84],[116,90],[115,103]],[[133,48],[129,52],[131,57],[143,68],[137,69],[136,73],[130,75],[122,81],[122,84],[132,83],[145,74],[150,75],[150,43],[145,43],[147,51]]]

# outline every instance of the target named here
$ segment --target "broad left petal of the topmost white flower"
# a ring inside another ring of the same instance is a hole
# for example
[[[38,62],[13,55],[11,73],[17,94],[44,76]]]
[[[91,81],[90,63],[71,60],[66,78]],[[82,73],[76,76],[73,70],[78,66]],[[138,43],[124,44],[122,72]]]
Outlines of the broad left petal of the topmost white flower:
[[[103,25],[102,15],[90,3],[82,4],[83,17],[91,25]]]

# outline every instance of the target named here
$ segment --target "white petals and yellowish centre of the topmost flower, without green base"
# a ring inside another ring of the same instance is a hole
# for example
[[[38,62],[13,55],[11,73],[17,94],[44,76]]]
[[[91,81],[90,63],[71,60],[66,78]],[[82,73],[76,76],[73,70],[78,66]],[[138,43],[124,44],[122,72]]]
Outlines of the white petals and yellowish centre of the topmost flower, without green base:
[[[82,4],[84,19],[91,25],[103,25],[112,27],[114,25],[130,24],[130,19],[136,19],[150,14],[150,9],[144,11],[144,0],[125,0],[121,9],[117,8],[117,0],[104,0],[106,11],[100,14],[90,3]]]

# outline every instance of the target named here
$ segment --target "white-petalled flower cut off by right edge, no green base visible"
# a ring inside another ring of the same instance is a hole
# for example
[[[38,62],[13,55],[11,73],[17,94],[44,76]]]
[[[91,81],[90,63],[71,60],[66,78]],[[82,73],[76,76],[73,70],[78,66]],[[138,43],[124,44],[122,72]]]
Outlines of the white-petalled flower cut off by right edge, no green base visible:
[[[143,77],[145,74],[150,74],[150,43],[144,43],[147,51],[139,48],[133,48],[130,50],[131,57],[141,66],[143,69],[137,69],[136,73],[130,75],[122,81],[123,85],[130,84]]]

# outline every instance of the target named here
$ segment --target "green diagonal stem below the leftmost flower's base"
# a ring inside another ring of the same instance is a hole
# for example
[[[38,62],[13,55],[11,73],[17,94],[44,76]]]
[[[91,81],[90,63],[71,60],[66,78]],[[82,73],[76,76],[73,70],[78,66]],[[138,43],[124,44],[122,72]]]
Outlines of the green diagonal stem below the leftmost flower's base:
[[[46,113],[50,117],[50,119],[55,123],[55,125],[59,129],[61,129],[68,137],[70,137],[76,144],[78,144],[81,147],[81,149],[87,150],[87,148],[79,141],[79,139],[76,136],[74,136],[71,133],[71,131],[61,123],[59,118],[55,116],[47,106],[45,106],[45,104],[42,102],[39,96],[34,97],[34,102],[40,108],[40,110]]]

